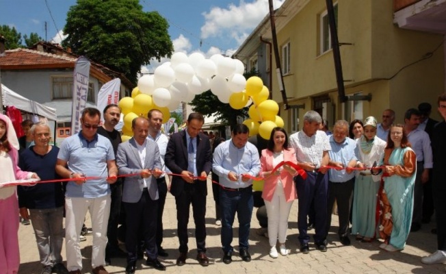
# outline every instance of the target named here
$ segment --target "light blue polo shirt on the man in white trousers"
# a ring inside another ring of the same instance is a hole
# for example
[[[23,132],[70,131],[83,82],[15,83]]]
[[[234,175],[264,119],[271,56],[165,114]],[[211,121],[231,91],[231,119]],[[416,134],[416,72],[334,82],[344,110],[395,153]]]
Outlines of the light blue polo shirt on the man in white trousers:
[[[96,134],[89,142],[83,138],[82,132],[72,135],[62,142],[57,158],[68,161],[68,169],[74,173],[81,173],[86,177],[100,177],[88,179],[86,183],[77,185],[68,182],[66,186],[67,197],[97,198],[110,192],[107,161],[114,160],[115,155],[112,142],[108,138]]]

